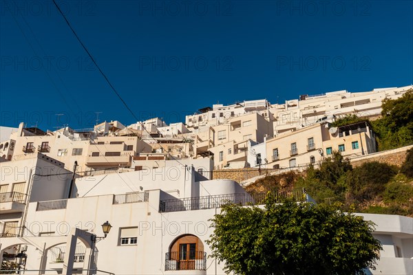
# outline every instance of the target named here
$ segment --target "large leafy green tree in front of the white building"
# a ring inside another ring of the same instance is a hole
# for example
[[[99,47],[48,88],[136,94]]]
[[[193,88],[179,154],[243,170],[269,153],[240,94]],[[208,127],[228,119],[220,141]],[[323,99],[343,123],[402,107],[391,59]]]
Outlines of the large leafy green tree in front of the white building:
[[[212,256],[234,274],[363,274],[381,249],[371,221],[337,206],[276,203],[264,209],[227,204],[211,220]]]

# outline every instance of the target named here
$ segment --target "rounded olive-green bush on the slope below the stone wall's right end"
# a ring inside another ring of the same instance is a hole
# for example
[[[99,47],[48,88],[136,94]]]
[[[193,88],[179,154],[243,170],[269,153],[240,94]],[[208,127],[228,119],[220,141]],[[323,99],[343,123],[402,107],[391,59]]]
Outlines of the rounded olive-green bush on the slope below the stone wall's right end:
[[[348,192],[352,199],[361,203],[373,199],[385,190],[385,184],[394,175],[396,175],[396,169],[388,164],[366,162],[348,173],[346,177]]]

